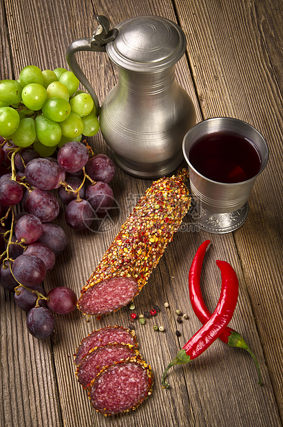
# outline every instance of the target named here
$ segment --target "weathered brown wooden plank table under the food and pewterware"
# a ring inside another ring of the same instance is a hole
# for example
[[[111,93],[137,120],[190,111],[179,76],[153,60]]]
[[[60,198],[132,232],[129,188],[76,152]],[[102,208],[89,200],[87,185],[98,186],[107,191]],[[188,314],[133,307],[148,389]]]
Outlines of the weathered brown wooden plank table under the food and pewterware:
[[[269,163],[249,198],[244,225],[223,235],[184,227],[186,231],[176,233],[136,298],[138,314],[156,304],[161,309],[147,324],[135,323],[140,352],[155,375],[154,393],[138,410],[118,417],[97,414],[76,380],[73,364],[73,353],[88,333],[107,324],[128,326],[129,307],[88,323],[78,311],[56,315],[54,334],[41,341],[28,333],[25,313],[1,287],[1,426],[281,425],[282,12],[280,0],[1,0],[1,79],[17,79],[21,68],[30,64],[42,70],[67,67],[67,45],[90,37],[96,14],[107,15],[112,26],[136,15],[157,14],[176,21],[185,31],[187,51],[176,67],[176,79],[193,99],[198,121],[240,118],[262,133],[270,149]],[[103,53],[78,58],[102,102],[116,84],[116,68]],[[100,133],[90,143],[95,152],[112,156]],[[107,233],[70,231],[62,207],[56,223],[65,229],[69,244],[47,275],[47,291],[66,285],[79,295],[151,182],[117,168],[111,185],[120,216]],[[187,216],[184,224],[189,224]],[[196,249],[207,238],[211,248],[202,275],[205,301],[211,310],[216,306],[220,275],[215,260],[227,260],[240,282],[231,326],[257,355],[263,386],[257,384],[255,364],[247,352],[217,341],[197,360],[172,368],[171,388],[161,387],[165,366],[200,328],[189,302],[187,276]],[[189,319],[178,324],[176,309]],[[164,325],[165,332],[154,331],[154,324]]]

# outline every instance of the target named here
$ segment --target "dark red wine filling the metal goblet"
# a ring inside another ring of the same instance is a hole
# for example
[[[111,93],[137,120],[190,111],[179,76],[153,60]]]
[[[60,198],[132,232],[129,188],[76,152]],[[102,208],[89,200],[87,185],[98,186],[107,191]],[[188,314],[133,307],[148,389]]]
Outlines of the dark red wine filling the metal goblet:
[[[250,140],[230,132],[200,137],[191,147],[189,162],[218,183],[241,183],[260,171],[260,155]]]

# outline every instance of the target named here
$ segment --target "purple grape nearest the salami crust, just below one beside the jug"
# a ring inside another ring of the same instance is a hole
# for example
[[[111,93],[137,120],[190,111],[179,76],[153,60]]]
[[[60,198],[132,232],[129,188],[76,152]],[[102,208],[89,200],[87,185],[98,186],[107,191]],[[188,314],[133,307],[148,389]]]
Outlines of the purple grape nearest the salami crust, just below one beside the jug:
[[[94,212],[106,213],[112,207],[114,194],[112,188],[102,181],[87,187],[85,191],[86,200],[92,205]]]

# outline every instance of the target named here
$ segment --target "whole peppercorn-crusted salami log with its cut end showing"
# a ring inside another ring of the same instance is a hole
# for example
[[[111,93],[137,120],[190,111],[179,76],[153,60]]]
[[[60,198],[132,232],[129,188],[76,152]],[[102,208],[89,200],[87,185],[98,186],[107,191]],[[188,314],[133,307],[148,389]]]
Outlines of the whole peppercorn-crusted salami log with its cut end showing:
[[[140,198],[81,290],[84,314],[117,311],[143,288],[189,209],[187,178],[187,169],[160,178]]]

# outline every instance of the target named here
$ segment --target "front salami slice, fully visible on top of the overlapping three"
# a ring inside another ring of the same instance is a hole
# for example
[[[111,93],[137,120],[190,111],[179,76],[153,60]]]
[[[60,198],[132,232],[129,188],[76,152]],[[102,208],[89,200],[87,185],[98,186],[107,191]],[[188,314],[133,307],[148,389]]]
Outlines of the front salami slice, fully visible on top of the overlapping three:
[[[92,381],[88,396],[97,412],[116,415],[136,409],[151,395],[152,384],[150,366],[134,357],[103,368]]]

